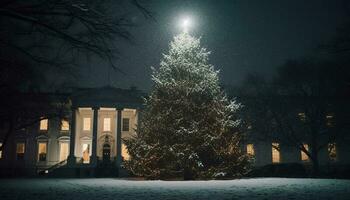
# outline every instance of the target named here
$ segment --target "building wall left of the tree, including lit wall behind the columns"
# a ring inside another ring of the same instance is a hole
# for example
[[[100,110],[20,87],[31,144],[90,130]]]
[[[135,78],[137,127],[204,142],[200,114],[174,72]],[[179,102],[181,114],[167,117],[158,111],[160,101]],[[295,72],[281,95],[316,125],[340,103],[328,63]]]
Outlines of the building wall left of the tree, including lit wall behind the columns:
[[[122,131],[122,138],[128,138],[132,134],[135,134],[137,128],[137,115],[138,112],[135,109],[125,109],[122,111],[122,118],[129,119],[129,130]],[[90,118],[90,130],[83,130],[83,119]],[[114,160],[116,157],[116,110],[101,108],[98,112],[98,141],[97,141],[97,156],[102,159],[103,144],[106,143],[105,136],[108,135],[109,143],[111,145],[111,159]],[[104,131],[104,118],[110,118],[110,131]],[[35,174],[37,170],[46,169],[59,163],[62,159],[60,153],[62,147],[60,144],[68,144],[70,141],[70,130],[61,130],[61,121],[59,119],[48,119],[47,130],[40,130],[40,123],[36,123],[25,130],[18,131],[16,134],[11,135],[8,140],[5,149],[2,152],[0,159],[0,168],[14,169],[23,171],[26,174]],[[124,129],[122,129],[124,130]],[[82,158],[82,147],[84,143],[92,145],[92,131],[93,131],[93,111],[91,108],[80,108],[76,112],[76,144],[75,144],[75,156],[77,160]],[[0,141],[1,142],[1,141]],[[16,145],[17,143],[25,144],[25,153],[23,159],[17,159]],[[45,143],[46,160],[39,161],[38,148],[40,143]],[[67,149],[69,152],[69,149]],[[66,152],[67,152],[66,151]],[[127,150],[125,146],[122,146],[122,156],[128,158]],[[19,170],[22,169],[22,170]],[[21,172],[22,173],[22,172]]]

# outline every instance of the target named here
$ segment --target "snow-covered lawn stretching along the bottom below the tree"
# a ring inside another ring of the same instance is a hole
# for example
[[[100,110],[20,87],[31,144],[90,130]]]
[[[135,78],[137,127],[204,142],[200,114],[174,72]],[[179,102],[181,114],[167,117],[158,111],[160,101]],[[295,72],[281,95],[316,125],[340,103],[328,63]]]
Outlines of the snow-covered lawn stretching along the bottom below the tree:
[[[350,180],[0,179],[0,199],[350,199]]]

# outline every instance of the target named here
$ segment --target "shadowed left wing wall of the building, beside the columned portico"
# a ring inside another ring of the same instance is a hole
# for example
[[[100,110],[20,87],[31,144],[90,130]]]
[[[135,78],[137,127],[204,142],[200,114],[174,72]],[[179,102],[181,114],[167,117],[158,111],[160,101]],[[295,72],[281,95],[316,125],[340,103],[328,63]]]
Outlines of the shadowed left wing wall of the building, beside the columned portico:
[[[60,119],[48,119],[47,130],[40,130],[40,123],[17,131],[11,135],[2,152],[0,168],[6,169],[9,174],[34,175],[40,169],[48,168],[59,162],[60,143],[69,143],[70,131],[61,130]],[[1,142],[1,141],[0,141]],[[17,157],[16,148],[18,143],[24,143],[24,157]],[[46,160],[39,160],[39,143],[46,144]],[[6,174],[5,174],[6,175]]]

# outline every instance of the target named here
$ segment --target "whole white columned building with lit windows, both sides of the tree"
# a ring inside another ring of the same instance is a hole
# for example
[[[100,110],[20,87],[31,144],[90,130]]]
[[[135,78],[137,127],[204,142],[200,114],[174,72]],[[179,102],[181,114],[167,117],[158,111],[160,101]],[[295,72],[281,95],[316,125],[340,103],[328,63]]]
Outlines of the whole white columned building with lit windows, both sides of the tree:
[[[10,135],[0,151],[0,176],[122,176],[129,155],[123,140],[140,121],[142,94],[112,87],[74,90],[66,119],[44,118]],[[0,145],[4,132],[0,128]],[[304,144],[309,148],[308,144]],[[311,164],[305,153],[279,141],[246,138],[242,150],[257,167],[279,163]],[[350,137],[330,142],[319,154],[320,165],[350,166]]]

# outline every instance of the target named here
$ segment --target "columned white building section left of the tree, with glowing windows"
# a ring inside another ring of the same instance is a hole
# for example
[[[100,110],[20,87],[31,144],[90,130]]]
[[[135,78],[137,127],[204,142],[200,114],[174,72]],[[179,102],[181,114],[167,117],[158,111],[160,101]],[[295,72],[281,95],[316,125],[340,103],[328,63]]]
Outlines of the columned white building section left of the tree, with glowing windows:
[[[135,89],[75,90],[69,95],[68,119],[43,116],[8,138],[0,152],[1,176],[85,177],[96,176],[96,168],[115,170],[108,175],[117,176],[123,161],[129,159],[123,139],[135,134],[141,96]]]

